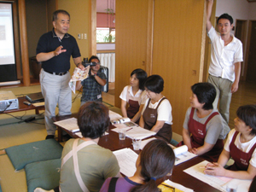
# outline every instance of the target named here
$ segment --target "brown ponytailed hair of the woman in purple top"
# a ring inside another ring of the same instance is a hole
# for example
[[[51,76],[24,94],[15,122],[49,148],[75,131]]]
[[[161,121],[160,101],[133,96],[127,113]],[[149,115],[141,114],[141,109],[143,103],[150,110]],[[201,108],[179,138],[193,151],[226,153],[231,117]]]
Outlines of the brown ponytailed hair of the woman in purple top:
[[[143,148],[139,158],[144,184],[134,187],[131,192],[158,191],[155,180],[166,177],[174,166],[175,154],[172,148],[163,140],[155,139]]]

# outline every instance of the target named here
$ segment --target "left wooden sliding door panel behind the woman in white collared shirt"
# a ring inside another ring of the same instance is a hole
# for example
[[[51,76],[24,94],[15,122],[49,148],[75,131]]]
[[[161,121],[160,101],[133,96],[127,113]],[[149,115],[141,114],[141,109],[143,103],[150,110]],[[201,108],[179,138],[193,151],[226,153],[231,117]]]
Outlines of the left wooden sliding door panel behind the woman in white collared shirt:
[[[115,106],[136,68],[145,70],[147,57],[148,0],[116,1]]]

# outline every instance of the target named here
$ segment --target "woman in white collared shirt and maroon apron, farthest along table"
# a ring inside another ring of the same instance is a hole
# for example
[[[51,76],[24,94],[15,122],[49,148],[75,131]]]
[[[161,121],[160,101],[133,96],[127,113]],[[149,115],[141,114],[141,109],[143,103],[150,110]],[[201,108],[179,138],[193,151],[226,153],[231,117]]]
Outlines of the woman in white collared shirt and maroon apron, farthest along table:
[[[130,118],[132,122],[139,123],[144,103],[147,99],[146,92],[144,91],[144,82],[147,79],[147,73],[137,68],[131,72],[130,85],[125,86],[121,95],[122,100],[121,111],[123,117]],[[128,103],[128,108],[126,106]]]

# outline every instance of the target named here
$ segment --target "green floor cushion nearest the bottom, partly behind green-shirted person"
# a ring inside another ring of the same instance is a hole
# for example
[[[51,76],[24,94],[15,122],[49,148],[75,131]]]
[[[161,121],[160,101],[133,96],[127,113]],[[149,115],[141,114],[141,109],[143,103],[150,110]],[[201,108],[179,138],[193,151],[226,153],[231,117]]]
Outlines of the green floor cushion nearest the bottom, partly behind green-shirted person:
[[[55,189],[60,182],[61,159],[33,162],[25,166],[27,191]]]

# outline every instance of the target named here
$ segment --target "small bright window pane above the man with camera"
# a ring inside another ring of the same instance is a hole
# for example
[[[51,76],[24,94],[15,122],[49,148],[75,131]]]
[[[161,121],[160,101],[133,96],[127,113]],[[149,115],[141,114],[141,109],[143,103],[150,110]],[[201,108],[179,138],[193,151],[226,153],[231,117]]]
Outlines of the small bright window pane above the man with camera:
[[[114,43],[115,28],[97,27],[96,28],[96,43]]]

